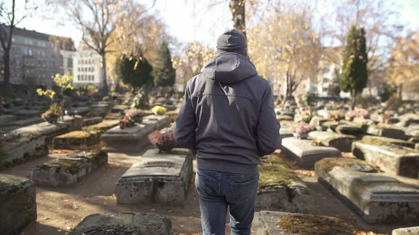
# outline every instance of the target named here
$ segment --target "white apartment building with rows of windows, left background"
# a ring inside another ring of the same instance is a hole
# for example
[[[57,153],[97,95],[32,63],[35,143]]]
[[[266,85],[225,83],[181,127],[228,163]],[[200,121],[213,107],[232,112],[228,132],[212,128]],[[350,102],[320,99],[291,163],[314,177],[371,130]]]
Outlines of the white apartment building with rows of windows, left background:
[[[73,86],[86,87],[94,85],[101,87],[101,56],[84,43],[80,43],[73,57]]]

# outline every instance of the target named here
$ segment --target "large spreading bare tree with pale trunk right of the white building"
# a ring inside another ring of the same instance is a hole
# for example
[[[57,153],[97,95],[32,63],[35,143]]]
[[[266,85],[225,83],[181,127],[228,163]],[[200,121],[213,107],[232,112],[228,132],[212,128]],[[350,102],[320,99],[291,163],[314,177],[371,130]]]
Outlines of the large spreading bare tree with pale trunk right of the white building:
[[[152,6],[156,0],[152,1]],[[59,6],[83,32],[82,43],[101,55],[102,90],[108,93],[106,54],[114,43],[125,45],[135,34],[135,22],[147,8],[134,0],[59,0]],[[112,34],[115,33],[114,36]],[[126,54],[126,48],[119,48]],[[124,53],[124,54],[125,54]]]

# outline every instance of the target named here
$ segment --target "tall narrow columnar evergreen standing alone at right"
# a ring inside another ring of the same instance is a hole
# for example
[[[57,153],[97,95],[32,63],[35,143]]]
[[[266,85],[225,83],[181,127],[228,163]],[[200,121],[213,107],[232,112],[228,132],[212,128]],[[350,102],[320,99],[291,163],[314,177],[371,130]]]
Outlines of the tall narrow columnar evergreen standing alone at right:
[[[344,64],[340,79],[340,89],[351,91],[351,108],[355,107],[355,96],[367,86],[367,43],[365,30],[351,27],[344,50]]]

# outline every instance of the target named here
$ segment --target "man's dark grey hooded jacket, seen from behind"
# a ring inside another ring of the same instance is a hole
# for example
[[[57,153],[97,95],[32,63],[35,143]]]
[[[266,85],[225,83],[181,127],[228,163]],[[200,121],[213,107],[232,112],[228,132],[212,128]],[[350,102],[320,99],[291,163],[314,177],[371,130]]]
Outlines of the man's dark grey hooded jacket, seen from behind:
[[[269,82],[237,53],[220,53],[188,84],[173,135],[197,151],[198,169],[256,174],[260,156],[279,149]]]

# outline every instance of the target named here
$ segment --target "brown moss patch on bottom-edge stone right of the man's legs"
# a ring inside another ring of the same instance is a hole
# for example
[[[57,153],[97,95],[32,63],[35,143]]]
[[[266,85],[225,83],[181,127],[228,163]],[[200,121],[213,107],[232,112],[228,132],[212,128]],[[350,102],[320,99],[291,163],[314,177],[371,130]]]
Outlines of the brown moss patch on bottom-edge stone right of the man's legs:
[[[300,235],[351,235],[351,228],[339,218],[322,215],[289,214],[279,218],[277,225]]]

